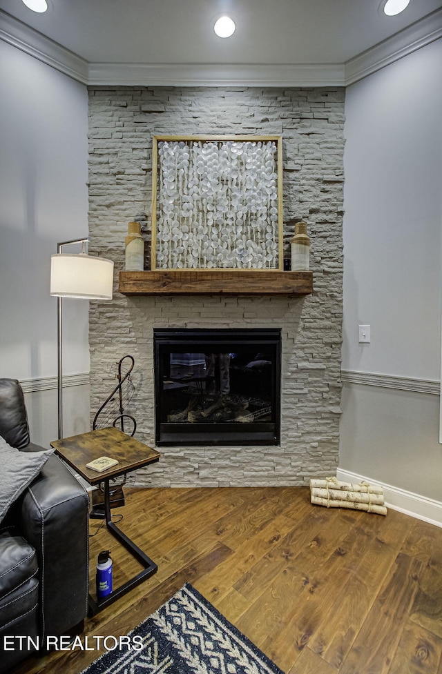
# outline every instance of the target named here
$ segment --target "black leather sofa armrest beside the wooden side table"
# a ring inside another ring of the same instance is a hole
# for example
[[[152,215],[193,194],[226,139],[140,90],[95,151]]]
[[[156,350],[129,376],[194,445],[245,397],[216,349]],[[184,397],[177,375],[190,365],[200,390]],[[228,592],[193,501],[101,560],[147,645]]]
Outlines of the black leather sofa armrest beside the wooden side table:
[[[39,560],[42,637],[68,634],[88,613],[84,486],[52,455],[21,499],[19,527]]]

